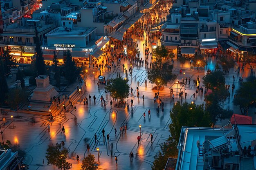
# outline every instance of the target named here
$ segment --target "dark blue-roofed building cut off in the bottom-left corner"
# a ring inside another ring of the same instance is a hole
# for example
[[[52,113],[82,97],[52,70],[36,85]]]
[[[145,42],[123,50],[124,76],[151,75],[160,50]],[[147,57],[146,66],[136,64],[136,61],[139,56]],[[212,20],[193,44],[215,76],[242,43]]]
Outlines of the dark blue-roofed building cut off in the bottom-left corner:
[[[11,152],[11,149],[0,149],[0,170],[28,169],[28,165],[21,164],[22,157],[18,157],[18,152]]]

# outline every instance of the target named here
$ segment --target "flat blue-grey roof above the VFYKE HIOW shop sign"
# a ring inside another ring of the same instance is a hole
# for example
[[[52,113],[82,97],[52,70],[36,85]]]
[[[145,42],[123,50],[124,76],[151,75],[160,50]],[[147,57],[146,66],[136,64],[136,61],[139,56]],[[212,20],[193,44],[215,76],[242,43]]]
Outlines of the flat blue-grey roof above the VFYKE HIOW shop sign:
[[[58,35],[63,35],[63,36],[88,36],[90,33],[95,31],[97,28],[95,27],[74,27],[73,29],[67,31],[67,30],[62,30],[60,29],[61,27],[58,27],[54,29],[53,31],[49,32],[46,34],[46,36],[51,37],[51,36],[58,36]]]

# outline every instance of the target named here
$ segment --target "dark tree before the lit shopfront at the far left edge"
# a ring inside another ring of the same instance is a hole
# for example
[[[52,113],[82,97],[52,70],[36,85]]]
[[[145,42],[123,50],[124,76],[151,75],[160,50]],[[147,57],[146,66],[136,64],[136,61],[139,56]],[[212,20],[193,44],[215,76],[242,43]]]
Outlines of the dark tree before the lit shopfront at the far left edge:
[[[11,68],[13,68],[16,63],[16,59],[14,59],[10,53],[11,53],[11,47],[6,45],[4,47],[4,53],[2,53],[0,55],[0,57],[2,58],[2,61],[4,63],[4,73],[5,74],[10,73]]]

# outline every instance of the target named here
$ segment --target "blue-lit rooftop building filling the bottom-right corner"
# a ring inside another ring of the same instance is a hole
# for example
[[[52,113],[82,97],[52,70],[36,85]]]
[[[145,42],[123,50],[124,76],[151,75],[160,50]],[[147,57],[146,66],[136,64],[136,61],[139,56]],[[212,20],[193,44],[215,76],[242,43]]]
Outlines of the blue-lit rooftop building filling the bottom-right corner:
[[[182,127],[176,170],[256,169],[255,131],[256,125]]]

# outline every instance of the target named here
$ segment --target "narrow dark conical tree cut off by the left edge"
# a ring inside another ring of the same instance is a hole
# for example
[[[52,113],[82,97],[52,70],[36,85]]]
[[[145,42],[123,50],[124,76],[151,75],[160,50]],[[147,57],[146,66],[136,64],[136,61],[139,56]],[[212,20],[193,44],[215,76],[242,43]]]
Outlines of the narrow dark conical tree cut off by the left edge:
[[[0,104],[4,104],[6,95],[8,93],[8,85],[4,74],[4,62],[0,57]]]

